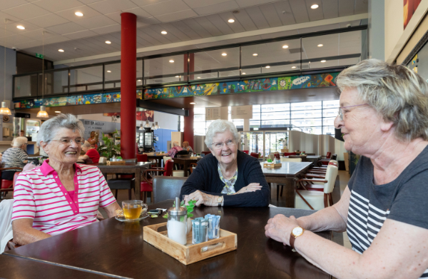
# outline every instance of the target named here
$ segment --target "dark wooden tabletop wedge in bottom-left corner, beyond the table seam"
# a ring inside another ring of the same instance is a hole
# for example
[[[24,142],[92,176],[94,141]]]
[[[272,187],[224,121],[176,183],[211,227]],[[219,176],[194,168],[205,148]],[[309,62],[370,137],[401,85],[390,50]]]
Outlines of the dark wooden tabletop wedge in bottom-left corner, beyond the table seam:
[[[0,278],[101,279],[111,277],[50,263],[40,263],[36,260],[0,255]]]

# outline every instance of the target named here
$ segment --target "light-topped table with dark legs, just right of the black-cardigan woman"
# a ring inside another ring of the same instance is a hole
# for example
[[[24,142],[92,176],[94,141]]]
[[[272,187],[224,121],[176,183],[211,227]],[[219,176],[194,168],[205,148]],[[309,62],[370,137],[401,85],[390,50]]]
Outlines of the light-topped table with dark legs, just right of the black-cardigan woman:
[[[277,195],[279,186],[283,185],[285,206],[294,208],[296,181],[310,168],[312,162],[281,162],[282,166],[280,168],[263,168],[263,164],[260,163],[267,183],[277,183]]]

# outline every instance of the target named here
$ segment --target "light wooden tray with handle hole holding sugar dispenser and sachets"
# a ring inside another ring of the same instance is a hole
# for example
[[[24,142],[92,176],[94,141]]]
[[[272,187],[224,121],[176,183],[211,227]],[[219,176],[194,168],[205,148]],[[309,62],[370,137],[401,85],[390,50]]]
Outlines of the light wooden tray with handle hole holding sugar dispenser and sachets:
[[[228,230],[222,230],[221,228],[220,238],[192,244],[192,233],[188,233],[188,242],[186,245],[182,245],[168,238],[166,230],[158,232],[161,227],[166,227],[166,223],[143,227],[143,240],[185,265],[236,250],[238,247],[236,233],[230,233]]]

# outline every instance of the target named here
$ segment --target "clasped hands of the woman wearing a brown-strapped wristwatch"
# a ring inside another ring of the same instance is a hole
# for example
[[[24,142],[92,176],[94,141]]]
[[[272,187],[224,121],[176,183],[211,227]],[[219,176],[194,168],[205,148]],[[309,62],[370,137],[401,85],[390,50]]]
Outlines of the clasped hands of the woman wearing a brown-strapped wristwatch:
[[[297,223],[295,216],[287,218],[284,215],[278,214],[267,221],[265,235],[268,238],[284,243],[284,245],[290,245],[291,231],[297,226],[299,226],[299,223]]]

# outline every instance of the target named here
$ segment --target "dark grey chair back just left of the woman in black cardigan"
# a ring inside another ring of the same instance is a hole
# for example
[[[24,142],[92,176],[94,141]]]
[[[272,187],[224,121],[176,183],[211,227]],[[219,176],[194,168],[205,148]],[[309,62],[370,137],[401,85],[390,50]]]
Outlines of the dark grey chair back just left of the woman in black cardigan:
[[[153,178],[153,203],[158,203],[165,200],[173,200],[175,197],[180,197],[181,187],[187,177],[165,177],[155,176]]]

